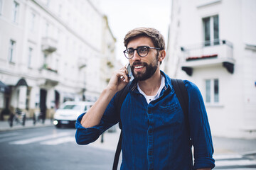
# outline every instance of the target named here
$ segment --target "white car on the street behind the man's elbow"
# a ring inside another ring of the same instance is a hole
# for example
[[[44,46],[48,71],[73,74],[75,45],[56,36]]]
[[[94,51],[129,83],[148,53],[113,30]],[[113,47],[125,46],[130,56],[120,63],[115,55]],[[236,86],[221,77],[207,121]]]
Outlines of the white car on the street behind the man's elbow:
[[[62,125],[73,125],[78,116],[85,113],[94,103],[88,101],[66,101],[55,112],[53,124],[56,128],[60,128]]]

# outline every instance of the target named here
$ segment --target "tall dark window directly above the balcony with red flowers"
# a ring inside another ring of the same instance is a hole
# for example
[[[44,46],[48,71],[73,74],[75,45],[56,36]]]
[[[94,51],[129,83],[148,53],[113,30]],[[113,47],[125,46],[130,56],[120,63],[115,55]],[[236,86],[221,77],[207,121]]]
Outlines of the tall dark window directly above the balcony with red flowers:
[[[203,18],[203,31],[205,46],[218,45],[220,43],[218,16]]]

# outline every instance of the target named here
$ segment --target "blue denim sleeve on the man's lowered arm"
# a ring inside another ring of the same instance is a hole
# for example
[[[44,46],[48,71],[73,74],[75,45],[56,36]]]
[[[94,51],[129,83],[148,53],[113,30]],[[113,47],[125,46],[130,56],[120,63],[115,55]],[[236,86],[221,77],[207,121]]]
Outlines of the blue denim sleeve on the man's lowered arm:
[[[193,169],[213,169],[213,141],[203,97],[198,87],[190,81],[184,81],[188,90],[188,120],[190,135],[194,147]]]

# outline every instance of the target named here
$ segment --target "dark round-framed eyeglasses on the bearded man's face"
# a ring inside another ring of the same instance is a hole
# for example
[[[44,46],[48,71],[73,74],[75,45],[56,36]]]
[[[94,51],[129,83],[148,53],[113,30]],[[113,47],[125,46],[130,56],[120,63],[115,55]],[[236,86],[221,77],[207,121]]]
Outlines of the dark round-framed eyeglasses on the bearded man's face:
[[[139,46],[136,49],[128,48],[127,50],[124,50],[124,55],[127,57],[127,59],[131,59],[134,57],[134,51],[137,50],[137,53],[140,57],[146,57],[146,55],[149,54],[149,49],[162,50],[158,47]]]

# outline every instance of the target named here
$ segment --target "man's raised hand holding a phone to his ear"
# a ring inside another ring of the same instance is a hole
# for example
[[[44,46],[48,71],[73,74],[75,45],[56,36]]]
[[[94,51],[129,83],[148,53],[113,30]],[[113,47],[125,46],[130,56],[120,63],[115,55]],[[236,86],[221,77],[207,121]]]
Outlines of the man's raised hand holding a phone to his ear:
[[[107,85],[107,89],[110,89],[114,92],[120,91],[124,88],[125,85],[129,83],[130,77],[127,76],[128,71],[126,67],[122,67],[114,72],[112,75],[109,84]]]

